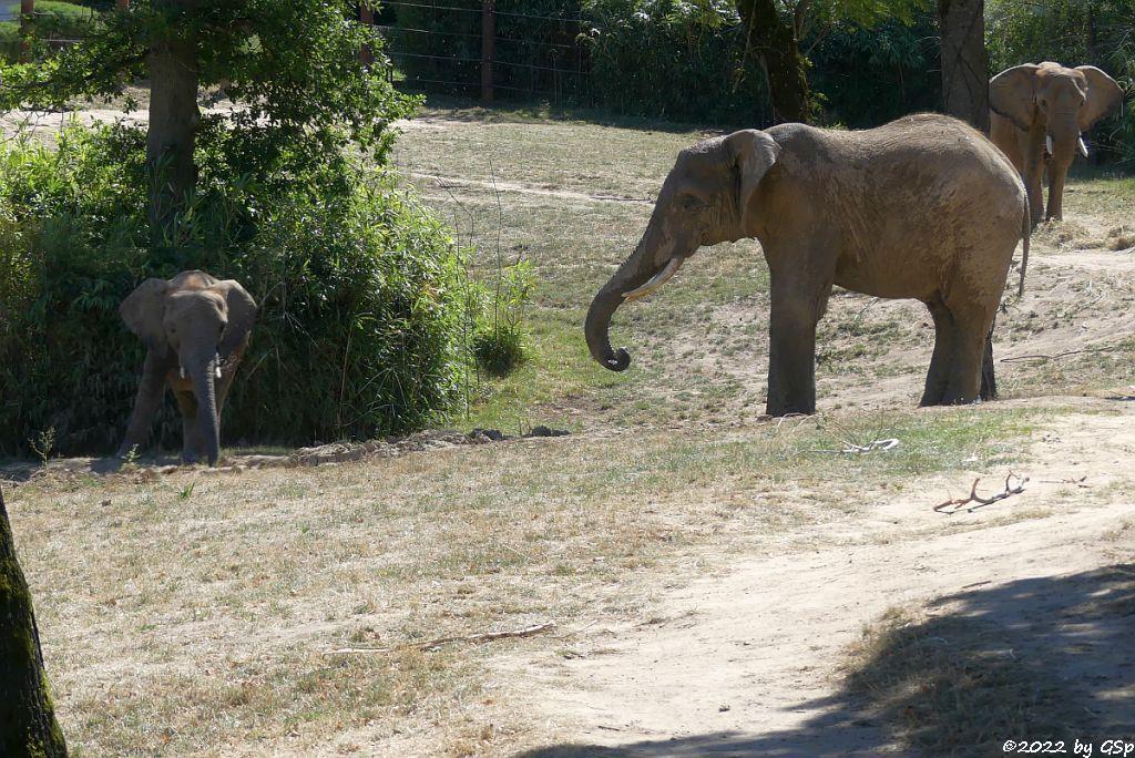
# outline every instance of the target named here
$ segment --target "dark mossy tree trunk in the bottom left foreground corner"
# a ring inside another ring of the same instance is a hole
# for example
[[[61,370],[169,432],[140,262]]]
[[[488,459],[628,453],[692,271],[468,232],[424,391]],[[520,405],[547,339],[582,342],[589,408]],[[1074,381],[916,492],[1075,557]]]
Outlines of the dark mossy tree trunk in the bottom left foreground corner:
[[[32,595],[16,559],[3,491],[0,491],[0,755],[67,756],[43,673]]]

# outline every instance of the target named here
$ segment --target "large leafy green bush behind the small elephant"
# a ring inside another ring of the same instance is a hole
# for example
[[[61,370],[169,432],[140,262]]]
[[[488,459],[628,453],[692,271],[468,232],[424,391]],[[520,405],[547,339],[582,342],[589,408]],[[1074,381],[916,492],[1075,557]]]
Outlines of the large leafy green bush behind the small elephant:
[[[144,133],[72,127],[57,151],[0,149],[0,454],[26,454],[51,429],[60,453],[114,449],[144,357],[118,304],[146,277],[193,268],[260,304],[229,443],[397,433],[457,399],[469,310],[445,228],[390,176],[345,159],[312,168],[285,152],[272,170],[244,170],[254,138],[203,130],[199,192],[178,238],[158,246]],[[169,398],[157,426],[179,446]]]

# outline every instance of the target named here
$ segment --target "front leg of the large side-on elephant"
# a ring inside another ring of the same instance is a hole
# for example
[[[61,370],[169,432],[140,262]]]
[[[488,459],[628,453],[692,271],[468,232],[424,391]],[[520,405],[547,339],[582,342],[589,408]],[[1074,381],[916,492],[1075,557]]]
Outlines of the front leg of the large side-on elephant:
[[[768,415],[816,412],[816,323],[826,293],[773,283],[768,347]],[[829,285],[830,289],[830,285]]]

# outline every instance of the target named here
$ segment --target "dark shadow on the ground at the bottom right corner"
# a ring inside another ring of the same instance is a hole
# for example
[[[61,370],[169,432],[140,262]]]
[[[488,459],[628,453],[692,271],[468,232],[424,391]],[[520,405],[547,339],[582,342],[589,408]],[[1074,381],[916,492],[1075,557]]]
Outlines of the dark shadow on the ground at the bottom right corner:
[[[791,731],[712,732],[522,758],[1003,755],[1006,740],[1135,738],[1135,564],[1022,579],[892,612]],[[628,710],[633,705],[628,704]],[[631,716],[632,717],[632,716]],[[612,742],[617,741],[613,733]]]

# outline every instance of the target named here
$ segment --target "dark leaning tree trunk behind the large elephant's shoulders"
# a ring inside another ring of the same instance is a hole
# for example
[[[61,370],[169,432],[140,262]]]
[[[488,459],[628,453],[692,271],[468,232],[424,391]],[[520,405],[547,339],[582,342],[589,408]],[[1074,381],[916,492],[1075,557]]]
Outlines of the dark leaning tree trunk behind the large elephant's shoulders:
[[[781,17],[774,0],[737,0],[746,28],[745,56],[768,75],[777,123],[812,120],[808,61],[800,54],[796,26]]]

